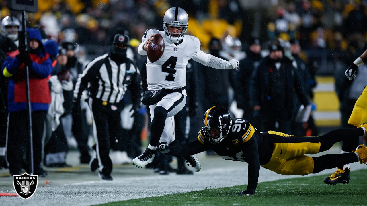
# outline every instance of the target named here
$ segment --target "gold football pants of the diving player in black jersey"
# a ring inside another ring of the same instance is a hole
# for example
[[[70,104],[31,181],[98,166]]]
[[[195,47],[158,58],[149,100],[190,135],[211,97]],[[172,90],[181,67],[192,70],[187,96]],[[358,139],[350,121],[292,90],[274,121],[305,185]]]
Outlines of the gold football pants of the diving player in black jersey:
[[[278,138],[280,141],[274,143],[273,155],[268,163],[261,165],[262,167],[285,175],[312,173],[313,159],[305,154],[319,152],[321,143],[317,142],[317,137],[292,136],[273,131],[268,133],[282,138]]]

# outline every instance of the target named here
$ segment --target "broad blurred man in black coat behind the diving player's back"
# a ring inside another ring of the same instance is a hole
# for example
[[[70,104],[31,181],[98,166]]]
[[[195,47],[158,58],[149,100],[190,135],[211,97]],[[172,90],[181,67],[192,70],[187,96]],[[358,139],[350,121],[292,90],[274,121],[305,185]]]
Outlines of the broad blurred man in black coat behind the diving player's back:
[[[294,92],[302,104],[308,99],[292,61],[284,57],[279,41],[269,44],[270,54],[261,61],[252,74],[250,100],[254,111],[259,111],[259,130],[291,132],[291,119],[294,111]]]

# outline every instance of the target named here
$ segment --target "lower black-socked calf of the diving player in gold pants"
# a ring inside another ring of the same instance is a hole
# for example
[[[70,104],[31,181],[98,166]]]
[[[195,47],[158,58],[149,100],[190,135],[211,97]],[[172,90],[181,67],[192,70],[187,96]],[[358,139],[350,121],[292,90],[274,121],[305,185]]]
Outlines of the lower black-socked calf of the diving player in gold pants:
[[[312,173],[319,173],[324,169],[336,168],[339,165],[358,162],[357,155],[354,152],[345,154],[326,154],[320,157],[313,157],[312,159],[314,162]]]

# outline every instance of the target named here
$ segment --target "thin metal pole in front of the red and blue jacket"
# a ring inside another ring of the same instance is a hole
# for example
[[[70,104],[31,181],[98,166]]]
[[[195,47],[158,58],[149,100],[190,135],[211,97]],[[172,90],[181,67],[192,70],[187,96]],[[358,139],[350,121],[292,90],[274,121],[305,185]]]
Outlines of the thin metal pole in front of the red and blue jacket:
[[[27,16],[26,11],[22,11],[22,28],[24,32],[24,50],[21,52],[26,52],[28,54],[28,47],[27,47]],[[29,67],[28,65],[25,65],[26,68],[26,95],[27,95],[27,109],[28,109],[28,118],[29,118],[29,124],[28,124],[28,134],[29,134],[29,140],[30,140],[30,173],[34,174],[34,166],[33,166],[33,133],[32,133],[32,112],[31,112],[31,106],[30,106],[30,95],[29,95]]]

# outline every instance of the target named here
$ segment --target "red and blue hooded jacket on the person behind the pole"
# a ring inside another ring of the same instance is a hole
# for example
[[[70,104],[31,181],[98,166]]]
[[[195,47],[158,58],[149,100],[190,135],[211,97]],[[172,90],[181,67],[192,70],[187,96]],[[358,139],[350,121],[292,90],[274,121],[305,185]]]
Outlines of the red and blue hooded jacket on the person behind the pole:
[[[29,67],[29,91],[32,111],[47,111],[51,102],[48,78],[52,71],[50,55],[44,51],[41,33],[38,29],[27,29],[29,39],[39,41],[38,54],[29,54],[32,66]],[[8,82],[8,110],[9,112],[27,110],[25,64],[16,55],[17,50],[10,53],[3,63],[3,75],[10,77]]]

